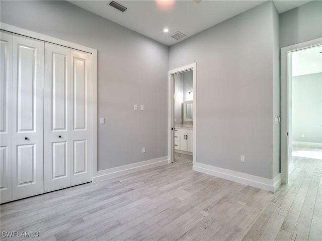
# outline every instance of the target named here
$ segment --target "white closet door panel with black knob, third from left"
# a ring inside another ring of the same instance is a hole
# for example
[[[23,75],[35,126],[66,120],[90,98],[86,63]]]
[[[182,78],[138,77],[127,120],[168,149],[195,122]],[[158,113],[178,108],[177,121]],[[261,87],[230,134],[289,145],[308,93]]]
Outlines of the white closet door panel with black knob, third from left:
[[[45,192],[70,186],[70,49],[45,44]]]

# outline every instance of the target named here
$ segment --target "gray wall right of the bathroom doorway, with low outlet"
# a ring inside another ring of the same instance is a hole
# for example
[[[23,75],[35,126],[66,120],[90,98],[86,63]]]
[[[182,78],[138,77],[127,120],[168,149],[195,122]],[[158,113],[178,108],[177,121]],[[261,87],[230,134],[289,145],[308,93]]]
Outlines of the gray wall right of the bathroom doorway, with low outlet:
[[[197,62],[197,162],[273,178],[275,11],[266,2],[170,47],[170,69]]]

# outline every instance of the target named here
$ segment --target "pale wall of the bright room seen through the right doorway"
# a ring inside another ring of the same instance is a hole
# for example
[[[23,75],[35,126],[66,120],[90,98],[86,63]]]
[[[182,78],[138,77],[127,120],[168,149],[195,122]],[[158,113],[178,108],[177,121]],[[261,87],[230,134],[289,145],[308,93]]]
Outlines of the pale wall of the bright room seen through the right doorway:
[[[292,77],[292,119],[293,141],[322,143],[322,73]]]

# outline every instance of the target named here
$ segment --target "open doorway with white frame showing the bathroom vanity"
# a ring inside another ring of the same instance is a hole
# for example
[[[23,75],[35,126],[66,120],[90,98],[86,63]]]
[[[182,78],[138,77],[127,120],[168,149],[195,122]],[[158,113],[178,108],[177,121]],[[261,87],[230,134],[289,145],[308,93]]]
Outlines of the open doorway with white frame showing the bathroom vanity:
[[[196,162],[196,67],[169,71],[169,163],[190,168]]]

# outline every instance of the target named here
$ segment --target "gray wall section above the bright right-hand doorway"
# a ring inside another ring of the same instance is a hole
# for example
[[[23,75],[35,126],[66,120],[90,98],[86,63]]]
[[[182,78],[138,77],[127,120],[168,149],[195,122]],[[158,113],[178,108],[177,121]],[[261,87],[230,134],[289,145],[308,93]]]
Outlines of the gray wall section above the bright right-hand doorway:
[[[322,1],[312,1],[280,15],[280,47],[322,37]]]

